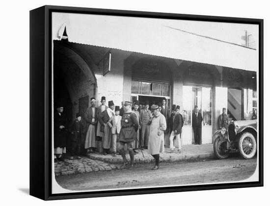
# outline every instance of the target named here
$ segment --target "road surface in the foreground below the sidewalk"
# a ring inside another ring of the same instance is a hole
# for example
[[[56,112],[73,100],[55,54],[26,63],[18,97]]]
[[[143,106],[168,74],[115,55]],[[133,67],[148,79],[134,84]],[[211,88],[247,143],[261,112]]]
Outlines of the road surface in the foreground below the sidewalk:
[[[60,176],[56,181],[70,190],[136,188],[148,186],[183,185],[237,181],[249,178],[255,171],[257,159],[233,157],[223,160],[162,164],[159,170],[152,166],[133,170],[91,172]]]

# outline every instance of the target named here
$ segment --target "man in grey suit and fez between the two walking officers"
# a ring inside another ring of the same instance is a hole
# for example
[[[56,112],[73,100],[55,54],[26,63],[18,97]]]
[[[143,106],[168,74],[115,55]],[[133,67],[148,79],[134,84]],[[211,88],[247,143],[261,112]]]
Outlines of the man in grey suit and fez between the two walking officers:
[[[149,102],[145,101],[145,108],[140,111],[140,122],[141,122],[140,146],[144,149],[148,148],[149,128],[152,120],[152,114],[148,108]]]

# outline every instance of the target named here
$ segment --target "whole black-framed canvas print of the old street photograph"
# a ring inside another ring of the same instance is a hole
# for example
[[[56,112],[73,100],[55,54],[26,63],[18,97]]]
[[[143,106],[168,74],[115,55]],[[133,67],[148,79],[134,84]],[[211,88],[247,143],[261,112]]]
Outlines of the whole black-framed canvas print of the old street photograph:
[[[263,186],[263,20],[30,11],[30,195]]]

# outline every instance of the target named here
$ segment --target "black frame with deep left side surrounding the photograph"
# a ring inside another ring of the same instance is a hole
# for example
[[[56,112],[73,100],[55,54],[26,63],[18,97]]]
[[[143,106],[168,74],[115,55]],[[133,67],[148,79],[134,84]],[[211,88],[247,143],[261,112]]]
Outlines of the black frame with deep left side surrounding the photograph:
[[[259,181],[52,194],[52,12],[164,18],[259,26]],[[263,186],[263,20],[45,5],[30,11],[30,195],[43,200]]]

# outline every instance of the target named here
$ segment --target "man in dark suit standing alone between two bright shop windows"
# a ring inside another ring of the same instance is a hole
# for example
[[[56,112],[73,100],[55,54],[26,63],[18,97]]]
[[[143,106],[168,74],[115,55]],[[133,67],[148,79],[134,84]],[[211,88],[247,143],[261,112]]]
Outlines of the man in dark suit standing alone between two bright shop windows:
[[[202,113],[199,112],[197,105],[194,106],[194,112],[192,113],[192,128],[194,132],[195,145],[202,144]]]

